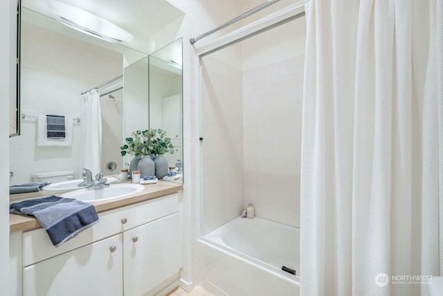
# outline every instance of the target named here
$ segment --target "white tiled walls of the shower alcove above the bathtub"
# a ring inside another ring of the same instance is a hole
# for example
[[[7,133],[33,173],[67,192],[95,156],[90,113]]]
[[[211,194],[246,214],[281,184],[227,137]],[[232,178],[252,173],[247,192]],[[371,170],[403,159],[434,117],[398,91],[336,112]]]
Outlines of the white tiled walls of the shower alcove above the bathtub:
[[[204,234],[255,214],[300,227],[304,56],[241,72],[202,59]]]

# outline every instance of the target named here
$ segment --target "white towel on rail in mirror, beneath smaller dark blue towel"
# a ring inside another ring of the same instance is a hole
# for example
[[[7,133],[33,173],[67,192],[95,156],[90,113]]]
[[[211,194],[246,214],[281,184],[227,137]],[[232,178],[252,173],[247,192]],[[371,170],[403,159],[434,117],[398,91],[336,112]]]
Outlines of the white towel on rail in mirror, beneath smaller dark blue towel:
[[[37,146],[69,147],[72,145],[73,118],[64,117],[65,137],[64,139],[48,139],[46,128],[46,115],[37,116]]]

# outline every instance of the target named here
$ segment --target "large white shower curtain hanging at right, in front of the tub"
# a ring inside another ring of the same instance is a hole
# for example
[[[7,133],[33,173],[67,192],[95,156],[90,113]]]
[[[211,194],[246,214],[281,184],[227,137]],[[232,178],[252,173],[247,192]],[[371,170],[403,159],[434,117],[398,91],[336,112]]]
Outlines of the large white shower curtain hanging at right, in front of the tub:
[[[305,10],[301,295],[425,295],[392,275],[443,275],[443,1]]]

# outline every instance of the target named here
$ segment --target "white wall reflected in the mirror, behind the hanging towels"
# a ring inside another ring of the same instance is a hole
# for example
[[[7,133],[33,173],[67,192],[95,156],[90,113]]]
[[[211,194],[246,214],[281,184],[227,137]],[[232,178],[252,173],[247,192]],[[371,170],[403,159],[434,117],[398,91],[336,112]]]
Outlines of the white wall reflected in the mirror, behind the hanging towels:
[[[22,112],[80,117],[80,93],[123,73],[120,53],[26,22],[21,31]],[[41,147],[36,145],[37,121],[22,120],[21,135],[10,139],[11,184],[29,182],[31,173],[42,171],[71,169],[78,176],[81,124],[73,126],[71,147]]]

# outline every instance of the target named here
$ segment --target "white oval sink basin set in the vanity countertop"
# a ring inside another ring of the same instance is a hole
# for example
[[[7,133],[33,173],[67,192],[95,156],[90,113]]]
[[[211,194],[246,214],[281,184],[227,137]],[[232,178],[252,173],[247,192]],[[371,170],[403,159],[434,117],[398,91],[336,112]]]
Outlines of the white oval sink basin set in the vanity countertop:
[[[109,185],[103,189],[87,190],[80,189],[64,193],[62,198],[75,198],[82,202],[98,202],[102,200],[112,200],[114,198],[123,198],[127,195],[142,191],[145,186],[141,184],[115,184]]]

